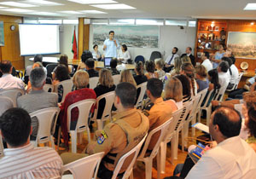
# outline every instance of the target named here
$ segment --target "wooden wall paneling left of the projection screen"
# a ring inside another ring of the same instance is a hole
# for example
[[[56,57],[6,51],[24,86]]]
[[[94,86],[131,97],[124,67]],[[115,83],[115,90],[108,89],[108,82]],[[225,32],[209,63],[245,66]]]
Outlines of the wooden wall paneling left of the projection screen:
[[[3,20],[4,31],[4,46],[1,47],[1,60],[9,60],[12,62],[15,69],[24,69],[24,57],[20,56],[20,38],[19,38],[19,23],[22,22],[22,17],[0,15],[0,20]],[[11,31],[10,26],[15,26],[15,30]]]

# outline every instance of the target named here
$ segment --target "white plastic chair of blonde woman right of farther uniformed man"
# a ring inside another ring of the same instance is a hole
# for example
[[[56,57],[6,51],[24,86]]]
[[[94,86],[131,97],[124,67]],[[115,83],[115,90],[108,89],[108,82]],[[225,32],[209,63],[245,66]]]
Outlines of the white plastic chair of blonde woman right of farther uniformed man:
[[[165,173],[166,170],[166,147],[167,143],[172,142],[172,157],[171,163],[173,163],[174,158],[174,138],[175,138],[175,127],[177,126],[177,121],[183,113],[183,108],[177,110],[172,113],[172,124],[169,125],[169,129],[167,130],[167,134],[164,137],[163,141],[160,142],[160,171],[161,173]]]

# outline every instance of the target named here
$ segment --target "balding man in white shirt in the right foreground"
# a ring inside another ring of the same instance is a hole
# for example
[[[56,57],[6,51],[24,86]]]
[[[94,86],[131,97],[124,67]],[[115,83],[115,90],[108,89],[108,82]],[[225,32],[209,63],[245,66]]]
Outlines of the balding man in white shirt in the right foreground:
[[[186,179],[252,179],[256,153],[240,136],[241,116],[230,107],[212,113],[209,131],[218,145],[208,150],[189,171]]]

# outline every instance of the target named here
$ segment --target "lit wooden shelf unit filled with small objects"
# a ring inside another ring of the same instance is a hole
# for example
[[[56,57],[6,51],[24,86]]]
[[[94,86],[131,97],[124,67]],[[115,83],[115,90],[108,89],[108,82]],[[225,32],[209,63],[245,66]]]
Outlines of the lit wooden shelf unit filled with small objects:
[[[195,40],[195,61],[201,62],[203,52],[210,59],[218,51],[219,45],[226,43],[227,22],[225,20],[198,20]]]

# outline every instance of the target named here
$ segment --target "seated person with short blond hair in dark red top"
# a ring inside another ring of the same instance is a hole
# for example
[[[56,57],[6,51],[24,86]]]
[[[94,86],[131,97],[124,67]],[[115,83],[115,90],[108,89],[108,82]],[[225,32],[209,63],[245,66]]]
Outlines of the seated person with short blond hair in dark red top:
[[[68,93],[66,95],[65,101],[60,104],[61,112],[59,114],[59,119],[61,122],[61,130],[64,143],[68,147],[68,134],[67,134],[67,107],[75,102],[86,100],[86,99],[96,99],[96,94],[94,90],[88,89],[89,84],[89,74],[83,70],[75,72],[73,76],[73,85],[76,90]],[[91,109],[93,113],[94,107]],[[75,108],[71,113],[71,124],[70,130],[74,130],[77,124],[77,119],[79,116],[78,108]]]

